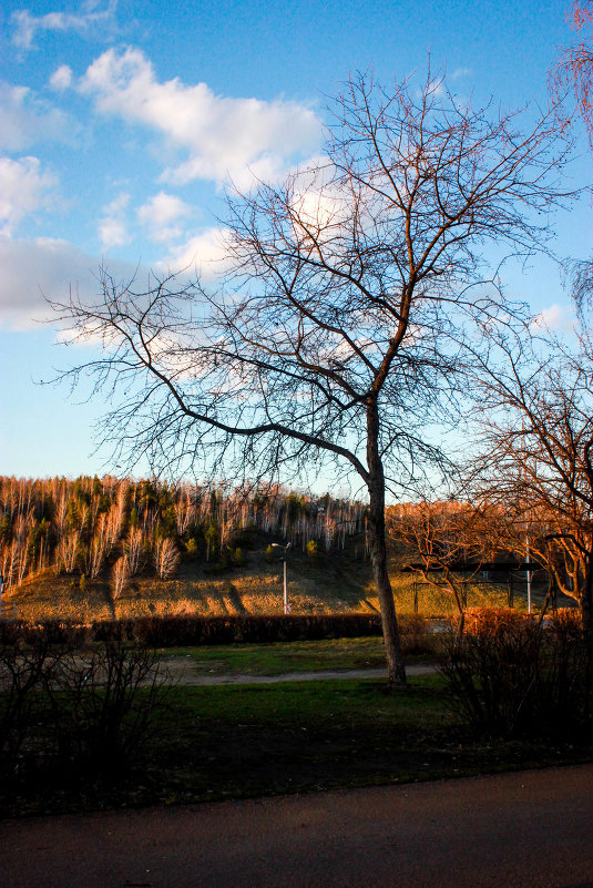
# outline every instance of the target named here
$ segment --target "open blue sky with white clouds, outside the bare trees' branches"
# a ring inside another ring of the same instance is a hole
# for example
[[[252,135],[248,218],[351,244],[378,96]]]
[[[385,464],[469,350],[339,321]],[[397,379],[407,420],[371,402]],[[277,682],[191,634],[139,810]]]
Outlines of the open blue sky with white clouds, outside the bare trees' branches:
[[[40,387],[78,363],[40,326],[43,294],[115,271],[207,263],[228,175],[279,177],[320,147],[324,96],[356,70],[388,83],[447,67],[476,103],[545,102],[566,3],[4,0],[0,13],[0,473],[109,470],[99,401]],[[574,170],[584,184],[589,161]],[[558,220],[590,252],[590,207]],[[550,264],[510,282],[534,310],[566,296]],[[74,353],[74,354],[72,354]]]

